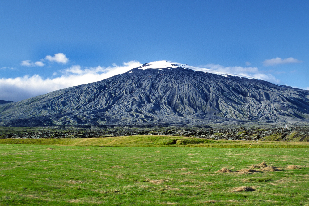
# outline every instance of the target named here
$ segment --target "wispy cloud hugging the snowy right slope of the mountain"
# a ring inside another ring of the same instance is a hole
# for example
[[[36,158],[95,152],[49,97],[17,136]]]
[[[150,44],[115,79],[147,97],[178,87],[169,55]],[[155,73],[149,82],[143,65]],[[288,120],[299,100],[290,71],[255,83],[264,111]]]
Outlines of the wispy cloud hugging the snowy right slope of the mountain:
[[[200,67],[212,69],[223,73],[231,73],[236,75],[242,75],[245,77],[252,77],[254,79],[261,79],[275,84],[281,83],[280,80],[276,79],[276,77],[274,77],[272,74],[265,74],[259,71],[257,67],[224,67],[219,64],[206,64]]]

